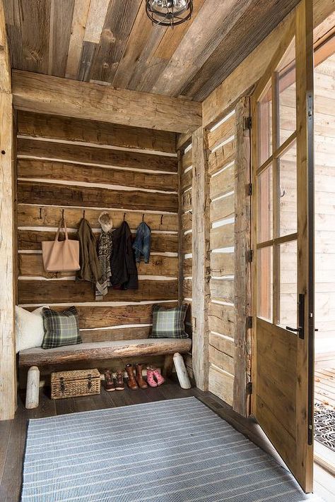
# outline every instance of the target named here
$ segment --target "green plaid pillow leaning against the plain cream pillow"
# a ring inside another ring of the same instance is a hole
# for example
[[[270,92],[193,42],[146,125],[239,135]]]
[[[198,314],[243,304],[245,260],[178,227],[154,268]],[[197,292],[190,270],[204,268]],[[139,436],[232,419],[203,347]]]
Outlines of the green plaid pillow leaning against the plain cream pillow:
[[[62,312],[44,308],[42,311],[45,336],[42,349],[82,343],[79,333],[78,312],[75,306]]]

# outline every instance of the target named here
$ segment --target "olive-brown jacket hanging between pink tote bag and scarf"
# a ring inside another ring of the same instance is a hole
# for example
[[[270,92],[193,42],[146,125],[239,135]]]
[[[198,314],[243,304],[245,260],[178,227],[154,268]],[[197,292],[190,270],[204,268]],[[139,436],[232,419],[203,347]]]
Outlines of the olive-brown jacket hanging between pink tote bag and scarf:
[[[76,279],[87,280],[96,284],[101,279],[101,268],[97,254],[97,244],[90,224],[82,218],[78,229],[78,240],[81,270],[78,270]]]

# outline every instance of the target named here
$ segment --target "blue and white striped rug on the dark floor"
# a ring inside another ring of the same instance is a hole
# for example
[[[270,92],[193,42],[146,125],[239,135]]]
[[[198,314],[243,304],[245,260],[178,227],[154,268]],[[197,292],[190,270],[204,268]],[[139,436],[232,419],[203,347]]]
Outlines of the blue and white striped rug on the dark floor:
[[[305,500],[286,470],[196,398],[29,422],[22,502]]]

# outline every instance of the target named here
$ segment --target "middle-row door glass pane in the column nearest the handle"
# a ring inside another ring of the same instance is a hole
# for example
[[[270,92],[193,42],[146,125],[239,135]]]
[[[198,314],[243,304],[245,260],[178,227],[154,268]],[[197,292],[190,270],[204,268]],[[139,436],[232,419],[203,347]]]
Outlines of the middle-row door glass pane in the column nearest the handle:
[[[278,160],[280,236],[297,232],[297,145],[294,142]]]

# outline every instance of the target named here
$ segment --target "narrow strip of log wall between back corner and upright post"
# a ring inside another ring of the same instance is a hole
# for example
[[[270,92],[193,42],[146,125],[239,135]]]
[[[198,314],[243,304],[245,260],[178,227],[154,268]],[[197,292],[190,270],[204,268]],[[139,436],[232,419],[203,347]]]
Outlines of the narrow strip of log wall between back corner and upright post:
[[[180,304],[189,304],[185,329],[192,337],[192,143],[178,150],[180,181]],[[192,354],[185,364],[193,378]]]

